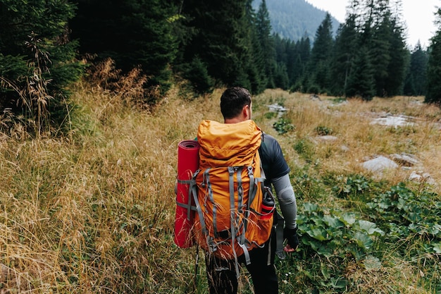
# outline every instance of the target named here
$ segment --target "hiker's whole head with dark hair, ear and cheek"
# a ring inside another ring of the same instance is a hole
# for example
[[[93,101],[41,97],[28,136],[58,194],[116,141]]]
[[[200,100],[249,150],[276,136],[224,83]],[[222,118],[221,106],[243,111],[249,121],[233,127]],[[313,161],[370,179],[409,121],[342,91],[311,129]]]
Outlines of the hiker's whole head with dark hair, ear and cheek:
[[[251,94],[242,87],[231,87],[221,96],[221,112],[225,123],[251,119]]]

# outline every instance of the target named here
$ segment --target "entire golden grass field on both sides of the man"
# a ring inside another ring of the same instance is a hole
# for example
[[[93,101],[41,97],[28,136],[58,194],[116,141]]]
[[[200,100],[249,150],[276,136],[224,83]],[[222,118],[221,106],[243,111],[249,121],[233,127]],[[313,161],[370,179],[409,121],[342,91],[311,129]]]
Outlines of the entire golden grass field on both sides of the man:
[[[202,119],[222,120],[221,92],[188,99],[173,89],[149,112],[118,94],[79,83],[66,134],[35,139],[18,124],[1,133],[0,293],[190,293],[194,248],[173,243],[177,145],[196,135]],[[309,94],[267,90],[254,97],[254,118],[280,140],[293,171],[305,169],[316,177],[360,173],[390,183],[423,171],[441,195],[438,107],[423,104],[423,97],[344,103],[334,98],[318,101]],[[287,118],[295,126],[290,133],[278,135],[272,127],[276,118],[266,118],[267,105],[274,103],[289,109]],[[386,113],[411,116],[415,124],[371,124]],[[317,142],[318,126],[332,129],[337,140]],[[310,161],[292,147],[299,140],[312,142]],[[361,168],[366,157],[395,153],[414,154],[420,164],[382,175]],[[297,192],[304,189],[293,185]],[[326,203],[302,195],[299,214],[303,201]],[[395,285],[402,293],[432,293],[421,276],[397,280],[424,269],[397,264],[370,276],[347,269],[348,275],[365,279],[351,293],[381,293],[375,283]],[[199,283],[205,293],[203,262]],[[245,275],[243,293],[248,283]],[[297,293],[309,292],[299,286]]]

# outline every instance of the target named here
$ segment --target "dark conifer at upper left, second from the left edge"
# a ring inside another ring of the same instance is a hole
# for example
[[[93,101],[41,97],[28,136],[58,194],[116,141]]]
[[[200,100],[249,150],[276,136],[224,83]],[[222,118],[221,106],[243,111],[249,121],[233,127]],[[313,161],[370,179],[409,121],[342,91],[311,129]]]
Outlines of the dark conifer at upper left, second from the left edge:
[[[175,7],[161,0],[78,0],[70,27],[82,54],[111,57],[123,71],[141,66],[150,77],[146,87],[160,85],[166,92],[177,49],[174,13]]]

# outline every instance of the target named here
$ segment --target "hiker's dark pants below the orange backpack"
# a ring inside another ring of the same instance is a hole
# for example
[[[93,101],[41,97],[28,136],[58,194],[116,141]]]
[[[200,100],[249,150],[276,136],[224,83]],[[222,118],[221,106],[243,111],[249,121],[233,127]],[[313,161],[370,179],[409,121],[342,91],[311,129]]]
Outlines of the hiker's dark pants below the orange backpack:
[[[271,234],[274,236],[274,234]],[[270,246],[271,243],[271,246]],[[268,265],[268,249],[271,247],[271,264]],[[251,264],[246,265],[254,285],[255,294],[278,294],[278,277],[275,274],[275,238],[270,238],[262,248],[249,251]],[[239,262],[245,264],[244,255]],[[237,277],[235,260],[218,259],[209,253],[205,256],[210,294],[236,294]]]

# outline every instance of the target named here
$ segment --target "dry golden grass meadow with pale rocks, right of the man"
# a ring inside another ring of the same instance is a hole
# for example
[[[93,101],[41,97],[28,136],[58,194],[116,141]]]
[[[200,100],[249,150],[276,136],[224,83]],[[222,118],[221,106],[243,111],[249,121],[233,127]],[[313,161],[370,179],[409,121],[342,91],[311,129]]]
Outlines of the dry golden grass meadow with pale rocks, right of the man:
[[[336,97],[319,100],[309,94],[266,90],[256,100],[261,105],[280,103],[289,109],[285,116],[295,130],[280,136],[280,142],[285,145],[284,152],[292,166],[306,164],[292,148],[295,142],[304,140],[310,143],[313,164],[320,165],[323,173],[361,173],[398,183],[416,171],[428,173],[435,183],[441,183],[441,111],[437,106],[423,104],[423,97],[375,97],[371,102]],[[409,117],[408,125],[395,127],[373,123],[375,118],[400,115]],[[268,133],[277,134],[272,129],[276,118],[257,119]],[[316,131],[318,127],[330,130],[336,140],[321,140]],[[361,165],[368,159],[392,154],[409,154],[419,164],[409,169],[386,171],[383,175],[371,174]],[[441,192],[439,185],[434,188]]]

